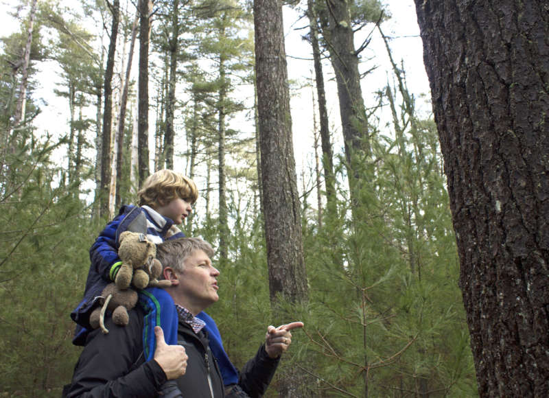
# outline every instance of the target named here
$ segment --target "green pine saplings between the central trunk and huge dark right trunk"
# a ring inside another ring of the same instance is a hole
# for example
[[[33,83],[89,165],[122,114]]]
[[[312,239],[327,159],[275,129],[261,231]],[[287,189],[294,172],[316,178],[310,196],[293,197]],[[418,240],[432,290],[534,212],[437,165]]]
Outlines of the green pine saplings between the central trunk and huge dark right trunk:
[[[355,163],[352,217],[340,202],[322,229],[305,228],[310,301],[296,360],[311,396],[477,394],[436,130],[412,121]]]

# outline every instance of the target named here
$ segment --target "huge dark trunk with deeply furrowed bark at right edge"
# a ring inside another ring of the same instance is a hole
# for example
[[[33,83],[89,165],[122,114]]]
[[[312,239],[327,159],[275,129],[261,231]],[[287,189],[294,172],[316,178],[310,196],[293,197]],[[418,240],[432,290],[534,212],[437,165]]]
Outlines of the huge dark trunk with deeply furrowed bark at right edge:
[[[415,0],[482,397],[549,396],[546,0]]]

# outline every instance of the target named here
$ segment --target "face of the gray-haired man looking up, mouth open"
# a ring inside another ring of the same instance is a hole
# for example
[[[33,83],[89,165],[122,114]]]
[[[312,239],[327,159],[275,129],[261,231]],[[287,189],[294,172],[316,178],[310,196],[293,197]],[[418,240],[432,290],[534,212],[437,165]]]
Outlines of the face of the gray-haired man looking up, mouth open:
[[[194,250],[184,264],[183,272],[176,271],[178,304],[196,315],[219,300],[217,278],[220,272],[211,265],[210,258],[202,250]]]

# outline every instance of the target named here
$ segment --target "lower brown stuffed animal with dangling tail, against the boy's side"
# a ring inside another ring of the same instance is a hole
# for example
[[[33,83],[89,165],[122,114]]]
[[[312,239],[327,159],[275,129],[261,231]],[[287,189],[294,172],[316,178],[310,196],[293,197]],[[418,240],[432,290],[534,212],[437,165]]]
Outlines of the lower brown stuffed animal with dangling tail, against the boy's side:
[[[128,310],[137,304],[137,292],[133,289],[120,289],[116,283],[109,283],[102,292],[102,307],[97,307],[90,315],[90,325],[93,329],[101,327],[103,333],[108,333],[105,327],[104,318],[106,310],[113,312],[113,322],[115,325],[126,326],[130,321]]]

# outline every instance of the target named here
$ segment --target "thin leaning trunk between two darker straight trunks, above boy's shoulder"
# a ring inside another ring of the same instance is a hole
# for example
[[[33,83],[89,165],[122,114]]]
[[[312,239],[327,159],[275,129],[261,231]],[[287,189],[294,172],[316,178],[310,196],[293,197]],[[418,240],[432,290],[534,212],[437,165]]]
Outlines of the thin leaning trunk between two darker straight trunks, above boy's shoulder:
[[[136,14],[132,25],[132,38],[130,40],[130,49],[128,51],[128,65],[126,65],[126,75],[124,78],[124,88],[122,89],[122,98],[120,102],[120,116],[118,123],[118,151],[116,159],[116,196],[115,208],[119,209],[122,204],[120,190],[123,184],[122,163],[124,161],[122,155],[124,153],[124,130],[126,128],[126,108],[128,106],[128,91],[130,89],[130,73],[132,70],[133,50],[135,47],[135,38],[137,37],[137,25],[139,23],[139,13]]]

